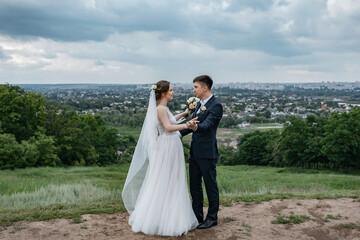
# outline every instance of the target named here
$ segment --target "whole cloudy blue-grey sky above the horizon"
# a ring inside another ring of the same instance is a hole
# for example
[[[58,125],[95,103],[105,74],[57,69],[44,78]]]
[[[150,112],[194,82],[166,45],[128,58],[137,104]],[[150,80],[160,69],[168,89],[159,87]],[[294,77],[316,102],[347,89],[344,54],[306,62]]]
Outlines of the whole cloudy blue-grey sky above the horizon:
[[[360,0],[0,0],[0,83],[360,81]]]

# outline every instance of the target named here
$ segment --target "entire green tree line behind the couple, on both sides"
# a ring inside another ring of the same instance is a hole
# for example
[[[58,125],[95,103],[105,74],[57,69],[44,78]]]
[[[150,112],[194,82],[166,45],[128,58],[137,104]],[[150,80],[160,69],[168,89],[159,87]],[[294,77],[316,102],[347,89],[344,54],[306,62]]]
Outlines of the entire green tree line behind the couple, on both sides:
[[[108,165],[130,162],[133,136],[109,127],[142,125],[145,112],[81,115],[17,86],[0,85],[0,169],[37,166]],[[360,169],[360,109],[329,118],[291,117],[283,131],[254,131],[238,147],[221,146],[224,165],[269,165]],[[238,122],[224,118],[224,127]],[[107,124],[105,124],[107,123]],[[110,124],[109,124],[110,123]],[[122,156],[116,154],[122,152]],[[190,146],[184,144],[186,160]]]

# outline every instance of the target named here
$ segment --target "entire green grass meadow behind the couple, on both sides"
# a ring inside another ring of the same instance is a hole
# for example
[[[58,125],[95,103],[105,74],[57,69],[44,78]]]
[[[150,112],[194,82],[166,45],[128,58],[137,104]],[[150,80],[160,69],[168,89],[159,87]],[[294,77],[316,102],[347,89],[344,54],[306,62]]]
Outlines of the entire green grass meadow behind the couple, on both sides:
[[[73,219],[126,211],[121,199],[129,165],[0,171],[0,228],[11,222]],[[360,196],[360,176],[331,171],[218,166],[220,203]],[[205,204],[207,201],[205,199]]]

